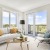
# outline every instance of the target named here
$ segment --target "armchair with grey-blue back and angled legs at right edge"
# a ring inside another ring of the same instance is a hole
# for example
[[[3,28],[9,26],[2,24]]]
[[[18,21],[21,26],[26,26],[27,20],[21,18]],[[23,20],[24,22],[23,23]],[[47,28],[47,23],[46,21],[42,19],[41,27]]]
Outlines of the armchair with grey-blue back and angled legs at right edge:
[[[39,46],[40,43],[42,42],[46,42],[48,44],[50,44],[50,31],[47,31],[43,37],[36,37],[36,39],[39,40],[39,43],[37,45],[37,47]]]

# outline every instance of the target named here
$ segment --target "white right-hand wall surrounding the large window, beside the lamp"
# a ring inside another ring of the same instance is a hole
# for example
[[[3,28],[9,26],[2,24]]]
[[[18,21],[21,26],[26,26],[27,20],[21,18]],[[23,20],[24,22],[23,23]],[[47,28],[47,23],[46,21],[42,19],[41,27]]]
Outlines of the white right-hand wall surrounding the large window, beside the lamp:
[[[28,21],[27,21],[27,15],[29,13],[35,13],[35,12],[39,12],[39,11],[43,11],[43,10],[47,10],[47,30],[50,30],[50,4],[29,10],[24,12],[24,16],[25,16],[25,34],[28,34]]]

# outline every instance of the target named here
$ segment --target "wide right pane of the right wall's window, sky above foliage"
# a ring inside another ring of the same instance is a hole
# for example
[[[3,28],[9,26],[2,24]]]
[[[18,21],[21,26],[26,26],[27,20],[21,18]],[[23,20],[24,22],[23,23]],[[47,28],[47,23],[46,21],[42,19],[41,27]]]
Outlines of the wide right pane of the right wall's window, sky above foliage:
[[[35,14],[35,26],[37,33],[45,33],[47,26],[47,12],[41,11]]]

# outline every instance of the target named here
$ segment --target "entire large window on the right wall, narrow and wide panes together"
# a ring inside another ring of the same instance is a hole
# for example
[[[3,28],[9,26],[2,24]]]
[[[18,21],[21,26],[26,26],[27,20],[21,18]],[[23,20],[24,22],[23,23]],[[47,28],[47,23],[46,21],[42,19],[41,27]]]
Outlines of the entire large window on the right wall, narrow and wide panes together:
[[[44,34],[47,30],[47,11],[28,14],[28,34]]]

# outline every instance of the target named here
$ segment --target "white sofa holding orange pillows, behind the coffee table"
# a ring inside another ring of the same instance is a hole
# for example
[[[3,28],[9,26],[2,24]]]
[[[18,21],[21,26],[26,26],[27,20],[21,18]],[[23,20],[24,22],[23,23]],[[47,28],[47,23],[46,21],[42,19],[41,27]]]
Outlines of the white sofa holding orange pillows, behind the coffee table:
[[[13,39],[20,36],[19,33],[14,34],[9,33],[10,29],[8,28],[0,28],[0,29],[3,30],[3,35],[0,36],[0,44],[4,43],[6,39]]]

